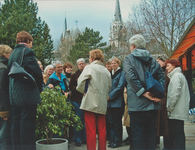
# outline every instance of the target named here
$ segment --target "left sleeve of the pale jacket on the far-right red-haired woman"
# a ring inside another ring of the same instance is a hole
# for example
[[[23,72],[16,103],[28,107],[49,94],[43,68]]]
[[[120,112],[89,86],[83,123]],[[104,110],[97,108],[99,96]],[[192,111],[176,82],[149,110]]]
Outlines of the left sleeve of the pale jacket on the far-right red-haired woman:
[[[168,99],[170,99],[170,101],[167,101],[167,111],[168,112],[172,112],[173,109],[175,108],[175,105],[177,104],[180,94],[181,94],[181,81],[179,76],[171,78],[171,82],[169,84],[171,84],[170,86],[172,88],[168,89],[168,93],[169,93],[169,97]]]

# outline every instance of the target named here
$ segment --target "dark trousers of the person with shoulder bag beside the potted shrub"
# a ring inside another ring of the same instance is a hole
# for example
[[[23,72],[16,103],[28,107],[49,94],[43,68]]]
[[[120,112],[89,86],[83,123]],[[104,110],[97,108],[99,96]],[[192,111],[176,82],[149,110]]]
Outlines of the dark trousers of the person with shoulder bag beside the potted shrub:
[[[11,107],[13,150],[35,150],[36,114],[37,105]]]

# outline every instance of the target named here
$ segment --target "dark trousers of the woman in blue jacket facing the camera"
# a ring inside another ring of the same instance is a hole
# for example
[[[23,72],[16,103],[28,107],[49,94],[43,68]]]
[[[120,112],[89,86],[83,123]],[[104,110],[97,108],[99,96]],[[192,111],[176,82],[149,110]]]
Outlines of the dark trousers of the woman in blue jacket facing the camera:
[[[122,114],[123,108],[108,108],[110,124],[110,143],[120,145],[122,142]]]

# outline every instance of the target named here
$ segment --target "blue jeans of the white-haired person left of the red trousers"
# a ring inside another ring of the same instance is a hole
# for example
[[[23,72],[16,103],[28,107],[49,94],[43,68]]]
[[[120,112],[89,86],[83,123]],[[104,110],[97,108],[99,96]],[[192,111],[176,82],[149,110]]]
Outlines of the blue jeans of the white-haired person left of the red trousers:
[[[80,131],[76,130],[76,127],[74,129],[74,142],[75,143],[81,143],[86,142],[86,130],[85,130],[85,121],[84,121],[84,111],[80,109],[80,105],[77,102],[73,102],[73,106],[75,107],[75,113],[76,115],[81,119],[83,123],[83,129]]]

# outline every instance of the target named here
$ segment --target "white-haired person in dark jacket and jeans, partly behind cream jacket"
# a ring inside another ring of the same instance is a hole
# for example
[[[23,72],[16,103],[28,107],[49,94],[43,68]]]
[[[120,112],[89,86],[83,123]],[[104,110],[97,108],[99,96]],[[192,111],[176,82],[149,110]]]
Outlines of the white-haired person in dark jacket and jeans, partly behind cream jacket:
[[[74,142],[76,146],[81,146],[81,143],[86,143],[86,131],[85,131],[85,121],[84,121],[84,112],[80,109],[81,100],[83,98],[83,94],[78,92],[76,90],[77,87],[77,80],[82,73],[83,69],[85,68],[85,60],[83,58],[80,58],[77,60],[77,66],[78,70],[71,75],[70,78],[70,90],[72,92],[71,94],[71,100],[73,102],[73,105],[75,107],[75,113],[77,116],[80,117],[84,128],[80,131],[77,131],[76,128],[74,129]]]

